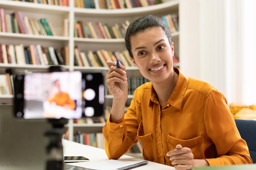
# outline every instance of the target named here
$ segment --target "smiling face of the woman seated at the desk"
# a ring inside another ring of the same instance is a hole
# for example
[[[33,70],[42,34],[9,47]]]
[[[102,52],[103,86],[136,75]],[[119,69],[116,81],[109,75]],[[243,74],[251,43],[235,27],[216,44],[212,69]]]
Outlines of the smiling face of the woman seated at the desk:
[[[162,82],[174,75],[173,42],[170,45],[161,27],[153,27],[130,37],[131,59],[151,82]]]

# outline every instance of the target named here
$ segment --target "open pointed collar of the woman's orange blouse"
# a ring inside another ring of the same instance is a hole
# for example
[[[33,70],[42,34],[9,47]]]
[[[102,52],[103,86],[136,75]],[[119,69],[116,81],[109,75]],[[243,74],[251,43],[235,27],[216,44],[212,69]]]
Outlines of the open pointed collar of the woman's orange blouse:
[[[177,84],[173,90],[173,93],[171,97],[168,99],[167,103],[180,110],[182,107],[182,101],[184,98],[184,94],[186,92],[186,88],[189,84],[189,78],[185,76],[183,73],[181,73],[179,68],[174,67],[173,69],[179,75],[179,77],[177,80]],[[158,103],[157,95],[155,93],[155,89],[152,86],[152,84],[151,84],[151,95],[148,102],[148,106],[150,106],[151,102]]]

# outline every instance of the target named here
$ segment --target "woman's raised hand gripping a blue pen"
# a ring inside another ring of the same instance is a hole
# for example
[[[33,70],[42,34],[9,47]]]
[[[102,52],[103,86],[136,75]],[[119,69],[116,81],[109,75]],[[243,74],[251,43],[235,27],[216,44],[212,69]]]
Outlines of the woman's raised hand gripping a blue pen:
[[[113,95],[113,99],[126,101],[128,98],[128,82],[126,67],[119,62],[120,68],[117,68],[116,62],[107,61],[109,70],[106,75],[106,84],[108,90]]]

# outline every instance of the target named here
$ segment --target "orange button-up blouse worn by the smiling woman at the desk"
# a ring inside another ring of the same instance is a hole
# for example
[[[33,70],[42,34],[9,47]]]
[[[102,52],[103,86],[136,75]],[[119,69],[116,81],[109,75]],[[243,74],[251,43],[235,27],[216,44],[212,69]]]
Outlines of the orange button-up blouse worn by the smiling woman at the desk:
[[[140,140],[144,159],[169,166],[166,153],[177,144],[191,148],[194,159],[205,159],[210,166],[252,163],[224,95],[178,68],[175,72],[177,85],[163,108],[148,82],[136,89],[117,124],[108,119],[103,127],[108,158],[118,159]]]

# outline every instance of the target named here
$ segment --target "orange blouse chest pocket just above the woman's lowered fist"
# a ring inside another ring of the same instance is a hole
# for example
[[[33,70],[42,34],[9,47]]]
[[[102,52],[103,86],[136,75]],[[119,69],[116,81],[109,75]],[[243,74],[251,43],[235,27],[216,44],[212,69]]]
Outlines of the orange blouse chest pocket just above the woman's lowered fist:
[[[202,159],[203,154],[201,152],[201,137],[195,137],[192,139],[188,140],[182,140],[182,139],[177,139],[175,137],[172,137],[170,135],[167,136],[167,142],[168,142],[168,150],[173,150],[176,148],[177,144],[180,144],[182,147],[187,147],[190,148],[193,155],[194,159]]]

